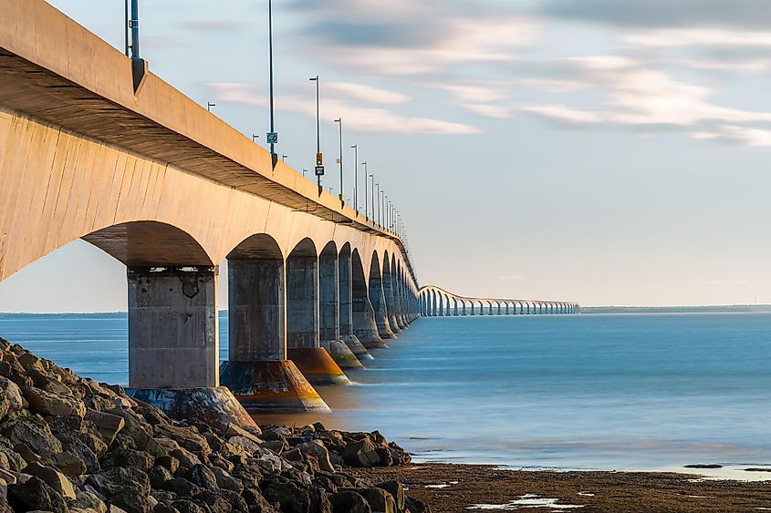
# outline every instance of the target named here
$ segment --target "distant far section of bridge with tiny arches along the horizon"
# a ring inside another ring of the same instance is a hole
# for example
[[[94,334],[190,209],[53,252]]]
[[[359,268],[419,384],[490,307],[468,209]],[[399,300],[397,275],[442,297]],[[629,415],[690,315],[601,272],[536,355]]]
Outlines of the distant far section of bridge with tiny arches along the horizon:
[[[465,297],[426,285],[418,292],[421,314],[425,317],[458,315],[543,315],[580,313],[578,303],[531,299],[493,299]]]

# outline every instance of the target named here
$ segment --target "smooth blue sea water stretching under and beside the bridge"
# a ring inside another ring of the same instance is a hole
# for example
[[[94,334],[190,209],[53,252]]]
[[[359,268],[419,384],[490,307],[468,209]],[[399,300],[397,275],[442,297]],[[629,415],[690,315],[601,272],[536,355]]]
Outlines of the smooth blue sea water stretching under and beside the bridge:
[[[127,382],[125,315],[0,315],[0,335],[79,374]],[[355,385],[319,388],[335,410],[320,420],[380,429],[420,459],[771,464],[771,314],[422,319],[374,355],[349,373]]]

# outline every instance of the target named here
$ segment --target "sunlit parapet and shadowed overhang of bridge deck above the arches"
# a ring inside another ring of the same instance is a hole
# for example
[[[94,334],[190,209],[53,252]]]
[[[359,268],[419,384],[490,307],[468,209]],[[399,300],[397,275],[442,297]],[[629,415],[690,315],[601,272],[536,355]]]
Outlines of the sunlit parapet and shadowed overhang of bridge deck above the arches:
[[[0,24],[0,108],[401,245],[161,78],[135,97],[130,59],[53,6],[0,0],[0,12],[16,20]]]

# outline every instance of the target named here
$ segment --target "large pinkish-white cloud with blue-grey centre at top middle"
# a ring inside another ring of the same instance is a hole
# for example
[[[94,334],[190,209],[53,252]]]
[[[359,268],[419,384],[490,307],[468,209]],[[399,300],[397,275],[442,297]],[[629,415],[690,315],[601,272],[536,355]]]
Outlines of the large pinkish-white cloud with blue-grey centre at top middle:
[[[308,20],[299,38],[325,46],[323,58],[379,75],[428,74],[452,71],[463,63],[505,61],[540,33],[535,18],[470,0],[295,0],[290,7]]]

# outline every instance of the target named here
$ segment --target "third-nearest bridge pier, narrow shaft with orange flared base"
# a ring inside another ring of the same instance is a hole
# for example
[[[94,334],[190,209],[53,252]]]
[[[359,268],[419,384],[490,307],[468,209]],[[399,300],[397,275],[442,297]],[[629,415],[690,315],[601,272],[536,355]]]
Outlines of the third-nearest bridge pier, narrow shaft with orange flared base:
[[[306,242],[287,258],[287,357],[311,385],[348,385],[348,377],[319,344],[318,257]]]

